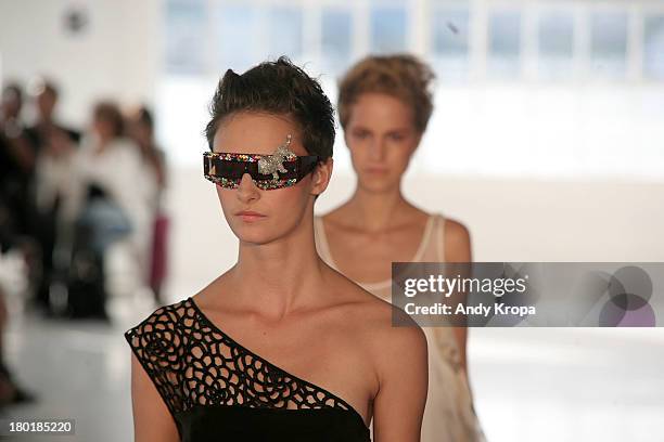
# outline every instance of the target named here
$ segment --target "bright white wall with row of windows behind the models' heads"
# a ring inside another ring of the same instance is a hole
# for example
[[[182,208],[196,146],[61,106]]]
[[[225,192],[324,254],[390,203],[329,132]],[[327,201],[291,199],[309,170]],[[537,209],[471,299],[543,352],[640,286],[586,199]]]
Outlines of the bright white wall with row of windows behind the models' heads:
[[[199,166],[191,152],[205,148],[207,105],[229,67],[286,54],[334,101],[368,52],[427,50],[435,112],[410,173],[662,176],[664,10],[652,0],[162,1],[157,128],[176,162]],[[410,15],[422,4],[426,14]],[[411,41],[411,26],[429,41]],[[350,171],[341,133],[335,147],[335,170]]]

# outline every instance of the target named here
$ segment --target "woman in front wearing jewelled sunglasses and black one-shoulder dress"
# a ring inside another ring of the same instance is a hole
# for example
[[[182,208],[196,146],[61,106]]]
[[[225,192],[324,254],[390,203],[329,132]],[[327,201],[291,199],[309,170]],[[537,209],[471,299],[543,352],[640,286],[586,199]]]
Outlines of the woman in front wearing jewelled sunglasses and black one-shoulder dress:
[[[369,441],[372,418],[375,441],[419,441],[423,332],[316,251],[334,143],[320,86],[284,57],[228,70],[206,135],[238,262],[125,334],[136,441]]]

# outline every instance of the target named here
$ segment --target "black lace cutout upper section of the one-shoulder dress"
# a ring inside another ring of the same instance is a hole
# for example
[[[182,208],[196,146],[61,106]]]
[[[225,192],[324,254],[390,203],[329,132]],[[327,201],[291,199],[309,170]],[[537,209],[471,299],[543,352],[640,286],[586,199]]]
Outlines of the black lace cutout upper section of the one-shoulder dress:
[[[191,298],[155,310],[125,338],[174,418],[196,405],[337,408],[355,414],[365,426],[343,399],[234,341]]]

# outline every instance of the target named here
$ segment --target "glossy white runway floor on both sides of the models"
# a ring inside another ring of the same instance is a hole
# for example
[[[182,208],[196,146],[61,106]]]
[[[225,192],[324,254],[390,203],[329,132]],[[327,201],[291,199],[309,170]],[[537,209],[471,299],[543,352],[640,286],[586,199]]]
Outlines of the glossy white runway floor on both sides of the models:
[[[113,325],[14,313],[8,361],[39,402],[5,417],[72,417],[76,435],[4,440],[131,441],[123,332],[152,309],[124,306]],[[474,328],[469,364],[491,442],[664,440],[664,328]]]

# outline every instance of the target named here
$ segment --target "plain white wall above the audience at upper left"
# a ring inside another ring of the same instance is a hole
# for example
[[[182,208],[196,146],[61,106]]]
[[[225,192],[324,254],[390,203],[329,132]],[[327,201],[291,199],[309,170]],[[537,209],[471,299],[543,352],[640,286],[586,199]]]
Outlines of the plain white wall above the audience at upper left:
[[[95,100],[154,101],[159,74],[159,0],[0,0],[0,80],[47,75],[58,82],[60,115],[82,127]],[[66,11],[86,8],[79,35]]]

